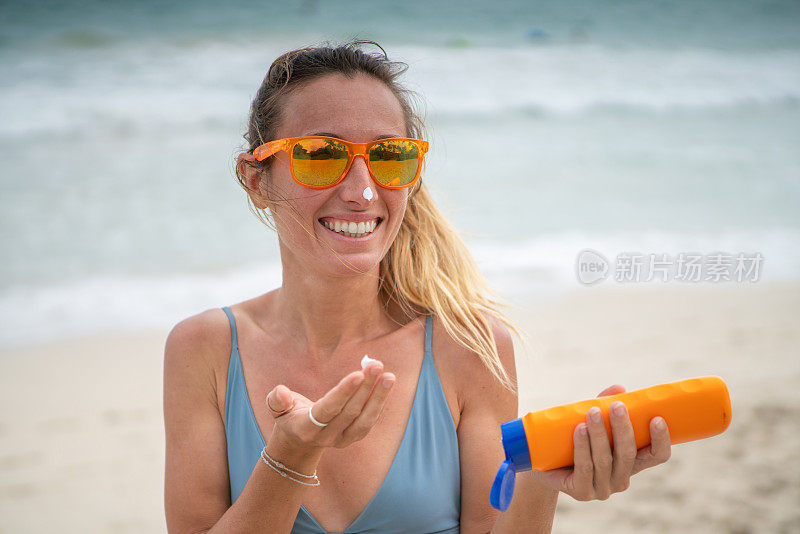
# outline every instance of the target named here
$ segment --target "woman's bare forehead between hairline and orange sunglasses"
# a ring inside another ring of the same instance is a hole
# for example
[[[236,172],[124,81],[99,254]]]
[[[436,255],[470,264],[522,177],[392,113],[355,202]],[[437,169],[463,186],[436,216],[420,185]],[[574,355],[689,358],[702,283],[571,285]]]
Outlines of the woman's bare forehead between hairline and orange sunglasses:
[[[405,136],[400,102],[383,82],[358,74],[329,74],[289,94],[278,137],[335,133],[364,142],[380,136]]]

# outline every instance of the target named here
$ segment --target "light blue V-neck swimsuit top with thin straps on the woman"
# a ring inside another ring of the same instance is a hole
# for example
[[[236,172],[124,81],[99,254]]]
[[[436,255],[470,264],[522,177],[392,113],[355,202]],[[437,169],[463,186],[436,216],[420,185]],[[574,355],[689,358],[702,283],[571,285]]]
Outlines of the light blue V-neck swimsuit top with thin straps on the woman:
[[[232,340],[225,394],[225,436],[233,503],[259,461],[265,442],[247,395],[236,321],[230,308],[222,309],[231,324]],[[425,357],[400,448],[378,492],[343,534],[459,532],[461,471],[458,438],[433,363],[432,323],[432,316],[428,315],[425,319]],[[292,533],[325,534],[325,530],[301,506]]]

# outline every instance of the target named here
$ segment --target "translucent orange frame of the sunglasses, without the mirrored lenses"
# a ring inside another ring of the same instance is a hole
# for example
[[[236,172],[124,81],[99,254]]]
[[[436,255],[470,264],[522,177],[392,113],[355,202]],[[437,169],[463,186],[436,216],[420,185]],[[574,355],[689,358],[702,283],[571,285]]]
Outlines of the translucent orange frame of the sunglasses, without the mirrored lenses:
[[[344,171],[342,171],[342,175],[339,176],[339,178],[337,178],[334,182],[328,185],[304,184],[303,182],[298,180],[294,174],[294,158],[292,157],[292,151],[294,150],[294,146],[300,141],[306,141],[309,139],[332,140],[343,144],[347,148],[347,166],[345,166]],[[369,164],[369,150],[373,146],[385,143],[387,141],[406,141],[417,147],[417,151],[419,153],[419,165],[417,166],[417,173],[414,175],[414,178],[407,184],[403,185],[382,184],[380,180],[375,178],[375,173],[372,172],[372,167]],[[289,170],[291,171],[292,180],[297,182],[299,185],[302,185],[303,187],[309,187],[311,189],[328,189],[330,187],[338,185],[344,179],[344,177],[347,176],[347,173],[350,172],[350,167],[353,166],[353,162],[355,161],[356,157],[361,156],[364,159],[364,162],[367,164],[367,170],[369,171],[369,175],[372,178],[372,181],[375,182],[378,186],[383,187],[384,189],[406,189],[417,183],[417,180],[419,180],[419,176],[422,173],[422,162],[425,160],[425,154],[428,152],[428,142],[423,141],[421,139],[412,139],[410,137],[387,137],[384,139],[377,139],[375,141],[370,141],[369,143],[352,143],[350,141],[345,141],[344,139],[339,139],[338,137],[328,137],[325,135],[306,135],[304,137],[287,137],[286,139],[276,139],[275,141],[264,143],[263,145],[260,145],[253,150],[253,156],[255,156],[255,158],[258,161],[263,161],[281,150],[283,150],[289,155]]]

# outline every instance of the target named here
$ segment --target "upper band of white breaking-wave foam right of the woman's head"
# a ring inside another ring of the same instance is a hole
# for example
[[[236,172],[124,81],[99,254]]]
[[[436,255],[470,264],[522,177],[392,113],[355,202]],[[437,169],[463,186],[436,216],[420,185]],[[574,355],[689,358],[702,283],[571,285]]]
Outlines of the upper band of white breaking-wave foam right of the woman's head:
[[[800,53],[600,46],[408,49],[409,77],[431,110],[490,115],[660,112],[800,100]],[[454,90],[457,88],[457,90]]]

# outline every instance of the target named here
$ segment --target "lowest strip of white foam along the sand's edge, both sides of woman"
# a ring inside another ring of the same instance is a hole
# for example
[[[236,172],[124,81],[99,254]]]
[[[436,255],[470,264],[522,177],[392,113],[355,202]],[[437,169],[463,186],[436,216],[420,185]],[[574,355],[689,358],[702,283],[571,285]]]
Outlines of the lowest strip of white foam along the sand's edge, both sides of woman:
[[[680,252],[760,252],[764,257],[760,283],[797,281],[800,273],[800,232],[792,229],[564,233],[515,242],[473,241],[469,247],[490,286],[501,298],[515,302],[581,287],[575,277],[575,261],[587,248],[612,261],[623,252],[672,256]],[[252,298],[280,283],[280,265],[272,262],[216,274],[102,277],[60,286],[12,288],[0,294],[0,347],[102,331],[166,331],[181,319]],[[605,284],[614,283],[608,280]]]

